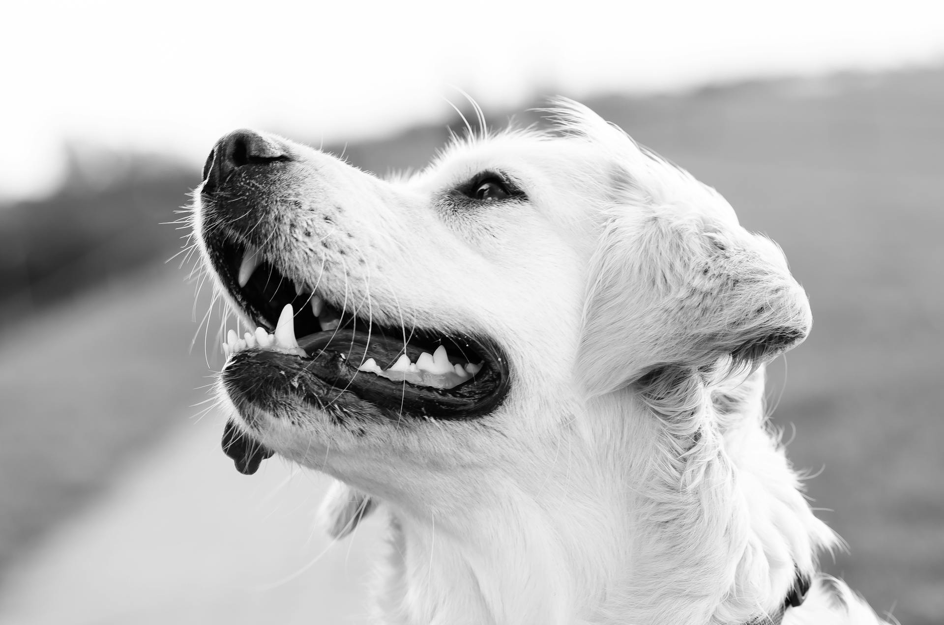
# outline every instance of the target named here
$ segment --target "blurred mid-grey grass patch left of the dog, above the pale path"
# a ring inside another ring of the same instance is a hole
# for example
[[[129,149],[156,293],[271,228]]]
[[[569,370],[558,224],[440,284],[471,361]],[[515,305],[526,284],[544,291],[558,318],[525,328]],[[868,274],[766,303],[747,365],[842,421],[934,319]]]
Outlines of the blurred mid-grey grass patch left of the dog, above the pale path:
[[[13,324],[0,314],[0,586],[207,397],[204,332],[191,341],[209,300],[194,307],[185,276],[155,263]]]

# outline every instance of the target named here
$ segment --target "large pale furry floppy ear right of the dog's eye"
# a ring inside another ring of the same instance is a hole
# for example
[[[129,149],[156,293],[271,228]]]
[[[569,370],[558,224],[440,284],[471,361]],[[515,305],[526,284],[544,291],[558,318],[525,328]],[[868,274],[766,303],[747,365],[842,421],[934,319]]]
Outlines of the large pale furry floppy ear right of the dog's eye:
[[[644,176],[629,170],[615,192],[590,265],[578,367],[589,394],[635,384],[665,397],[800,343],[812,318],[780,248],[741,228],[714,190],[633,148]]]

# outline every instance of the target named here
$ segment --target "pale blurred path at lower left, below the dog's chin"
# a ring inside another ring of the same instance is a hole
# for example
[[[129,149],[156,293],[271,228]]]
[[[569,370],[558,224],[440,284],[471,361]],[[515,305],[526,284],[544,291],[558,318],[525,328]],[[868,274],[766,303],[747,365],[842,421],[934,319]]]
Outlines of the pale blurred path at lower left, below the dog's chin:
[[[9,572],[0,625],[366,622],[379,519],[330,546],[327,479],[278,458],[240,475],[222,424],[187,423],[52,532]]]

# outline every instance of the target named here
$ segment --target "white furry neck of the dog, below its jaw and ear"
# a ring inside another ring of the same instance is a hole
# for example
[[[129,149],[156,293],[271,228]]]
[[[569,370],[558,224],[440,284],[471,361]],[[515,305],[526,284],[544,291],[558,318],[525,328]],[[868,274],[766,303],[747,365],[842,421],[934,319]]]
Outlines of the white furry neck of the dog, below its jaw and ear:
[[[711,427],[688,433],[604,397],[593,418],[569,419],[537,482],[489,476],[492,503],[463,514],[391,506],[380,611],[390,623],[562,625],[775,613],[833,536],[765,428],[762,391],[763,372],[716,391]]]

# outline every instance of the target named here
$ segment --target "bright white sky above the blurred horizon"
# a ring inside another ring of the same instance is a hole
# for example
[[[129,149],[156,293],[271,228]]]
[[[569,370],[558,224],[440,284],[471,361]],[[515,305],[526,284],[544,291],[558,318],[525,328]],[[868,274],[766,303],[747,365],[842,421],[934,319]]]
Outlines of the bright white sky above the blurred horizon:
[[[202,162],[235,127],[327,141],[484,106],[944,62],[941,0],[8,2],[0,198],[64,141]]]

